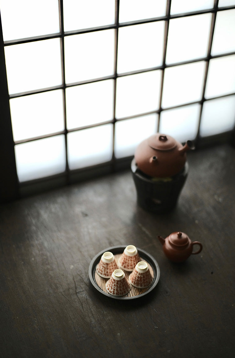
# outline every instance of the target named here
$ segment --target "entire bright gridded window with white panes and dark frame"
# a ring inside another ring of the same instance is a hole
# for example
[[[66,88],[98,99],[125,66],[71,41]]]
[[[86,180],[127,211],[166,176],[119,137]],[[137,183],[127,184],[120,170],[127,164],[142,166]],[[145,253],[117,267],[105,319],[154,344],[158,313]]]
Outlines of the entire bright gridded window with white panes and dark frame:
[[[156,131],[200,143],[234,130],[235,1],[0,11],[3,198],[117,170]]]

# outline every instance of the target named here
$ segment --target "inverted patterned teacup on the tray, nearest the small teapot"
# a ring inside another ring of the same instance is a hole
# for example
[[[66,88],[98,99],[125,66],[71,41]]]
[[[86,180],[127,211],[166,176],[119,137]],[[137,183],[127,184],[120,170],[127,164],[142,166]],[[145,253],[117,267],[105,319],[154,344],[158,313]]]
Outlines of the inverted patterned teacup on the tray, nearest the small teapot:
[[[148,264],[145,261],[139,261],[134,270],[129,275],[129,281],[132,286],[139,289],[144,289],[152,284],[153,277],[151,276]]]

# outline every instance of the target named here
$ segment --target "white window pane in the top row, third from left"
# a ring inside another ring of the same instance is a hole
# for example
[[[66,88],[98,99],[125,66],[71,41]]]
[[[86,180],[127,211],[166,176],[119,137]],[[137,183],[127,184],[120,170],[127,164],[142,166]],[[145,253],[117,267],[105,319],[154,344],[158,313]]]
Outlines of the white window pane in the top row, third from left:
[[[166,0],[120,0],[119,22],[157,18],[166,15]]]

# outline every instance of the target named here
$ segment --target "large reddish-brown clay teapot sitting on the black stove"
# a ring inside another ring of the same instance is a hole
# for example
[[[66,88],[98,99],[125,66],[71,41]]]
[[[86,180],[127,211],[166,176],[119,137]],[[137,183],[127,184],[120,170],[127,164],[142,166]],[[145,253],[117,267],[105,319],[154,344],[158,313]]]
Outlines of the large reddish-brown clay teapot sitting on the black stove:
[[[190,140],[183,146],[173,137],[157,133],[138,145],[134,159],[143,173],[164,178],[178,174],[183,169],[189,149],[194,149]]]

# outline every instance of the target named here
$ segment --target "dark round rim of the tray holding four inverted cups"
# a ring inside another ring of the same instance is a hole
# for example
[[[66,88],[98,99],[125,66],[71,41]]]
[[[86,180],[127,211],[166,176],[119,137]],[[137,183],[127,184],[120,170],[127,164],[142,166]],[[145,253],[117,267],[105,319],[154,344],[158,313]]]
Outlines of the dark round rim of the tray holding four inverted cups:
[[[152,285],[150,286],[150,288],[148,290],[146,290],[145,292],[137,295],[137,296],[133,296],[133,297],[119,297],[119,296],[113,296],[108,294],[107,292],[104,292],[97,284],[96,279],[95,279],[95,270],[96,270],[96,265],[99,263],[99,260],[101,259],[101,256],[103,255],[104,252],[106,251],[111,251],[113,253],[113,255],[118,254],[118,253],[122,253],[124,251],[124,248],[126,248],[127,245],[116,245],[116,246],[111,246],[111,247],[107,247],[106,249],[100,251],[97,253],[96,256],[93,257],[92,261],[90,262],[89,265],[89,279],[90,282],[92,283],[92,285],[99,291],[101,292],[103,295],[109,297],[109,298],[113,298],[116,300],[132,300],[132,299],[136,299],[142,296],[147,295],[150,291],[152,291],[155,286],[157,285],[159,279],[160,279],[160,268],[158,266],[157,261],[155,260],[155,258],[150,255],[147,251],[142,250],[141,248],[137,248],[139,256],[141,256],[143,259],[145,259],[148,263],[151,264],[153,272],[154,272],[154,277],[153,277],[153,282]]]

